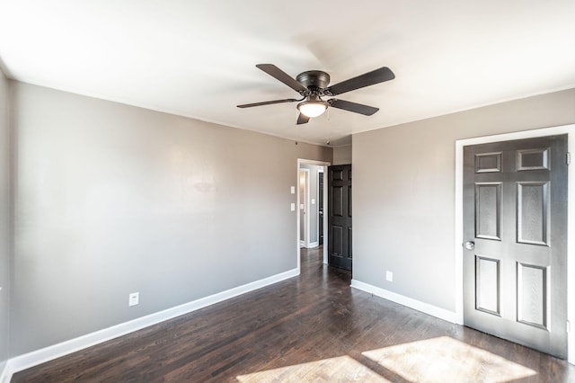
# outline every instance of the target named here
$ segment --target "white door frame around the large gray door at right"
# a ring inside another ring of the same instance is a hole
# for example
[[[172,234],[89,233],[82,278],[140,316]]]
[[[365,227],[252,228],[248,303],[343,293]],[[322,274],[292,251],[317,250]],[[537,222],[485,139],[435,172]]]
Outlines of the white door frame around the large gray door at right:
[[[563,125],[553,128],[533,129],[506,133],[480,138],[466,138],[456,140],[456,321],[464,324],[464,233],[463,233],[463,175],[464,175],[464,147],[470,145],[486,144],[490,142],[509,141],[512,139],[536,138],[567,134],[568,150],[575,150],[575,124]],[[568,194],[567,200],[567,320],[575,323],[575,164],[568,166]],[[566,324],[567,326],[567,324]],[[567,334],[568,357],[567,361],[575,364],[575,328]]]

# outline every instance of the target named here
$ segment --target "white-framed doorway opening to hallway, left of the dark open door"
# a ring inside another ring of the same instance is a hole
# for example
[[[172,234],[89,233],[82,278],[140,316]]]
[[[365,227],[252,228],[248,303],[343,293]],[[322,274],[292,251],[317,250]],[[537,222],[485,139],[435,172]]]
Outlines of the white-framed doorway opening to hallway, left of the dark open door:
[[[301,249],[322,247],[327,263],[327,166],[329,162],[297,160],[297,269],[301,269]]]

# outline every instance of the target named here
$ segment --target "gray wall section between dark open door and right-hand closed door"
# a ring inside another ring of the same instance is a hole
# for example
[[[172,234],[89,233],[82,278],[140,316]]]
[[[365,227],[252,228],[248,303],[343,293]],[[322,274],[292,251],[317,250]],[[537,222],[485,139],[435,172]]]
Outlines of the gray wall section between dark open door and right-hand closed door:
[[[353,278],[455,311],[456,139],[571,123],[575,89],[354,135]]]

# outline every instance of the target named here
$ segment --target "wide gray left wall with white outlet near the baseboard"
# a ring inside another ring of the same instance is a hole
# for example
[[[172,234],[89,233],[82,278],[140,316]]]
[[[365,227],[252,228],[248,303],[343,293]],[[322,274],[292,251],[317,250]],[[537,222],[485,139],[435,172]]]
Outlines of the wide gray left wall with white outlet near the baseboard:
[[[296,268],[297,158],[331,148],[13,86],[11,355]]]

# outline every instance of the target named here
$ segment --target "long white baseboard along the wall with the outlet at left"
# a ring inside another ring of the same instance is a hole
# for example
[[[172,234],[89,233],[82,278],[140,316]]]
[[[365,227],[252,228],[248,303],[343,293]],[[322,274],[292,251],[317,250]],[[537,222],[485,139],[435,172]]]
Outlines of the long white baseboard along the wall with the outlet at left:
[[[40,363],[52,361],[69,353],[84,350],[85,348],[91,347],[95,344],[103,343],[119,336],[133,333],[134,331],[147,326],[156,325],[176,316],[188,314],[192,311],[198,310],[199,308],[207,307],[226,299],[237,297],[255,289],[261,289],[279,281],[296,277],[297,275],[299,275],[299,271],[297,269],[292,269],[288,272],[281,272],[260,281],[253,281],[234,289],[218,292],[217,294],[210,295],[205,298],[199,298],[180,306],[167,308],[154,314],[142,316],[119,325],[104,328],[91,334],[85,334],[62,343],[57,343],[40,350],[13,357],[5,363],[4,372],[0,375],[0,383],[8,383],[10,379],[12,379],[12,375],[18,371],[29,369],[33,366],[39,365]]]

